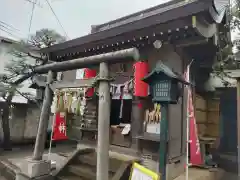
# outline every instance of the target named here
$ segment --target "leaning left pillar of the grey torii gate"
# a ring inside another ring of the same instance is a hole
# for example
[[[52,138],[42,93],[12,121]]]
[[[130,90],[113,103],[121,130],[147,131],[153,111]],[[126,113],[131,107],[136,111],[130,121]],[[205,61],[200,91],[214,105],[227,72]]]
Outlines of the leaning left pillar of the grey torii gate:
[[[39,119],[39,126],[38,126],[38,132],[33,152],[33,160],[42,160],[43,152],[44,152],[44,146],[46,141],[46,134],[47,134],[47,127],[48,127],[48,121],[49,121],[49,114],[51,109],[51,103],[53,100],[53,92],[49,85],[53,81],[53,72],[49,71],[47,76],[47,85],[45,88],[45,97],[43,100],[41,115]]]

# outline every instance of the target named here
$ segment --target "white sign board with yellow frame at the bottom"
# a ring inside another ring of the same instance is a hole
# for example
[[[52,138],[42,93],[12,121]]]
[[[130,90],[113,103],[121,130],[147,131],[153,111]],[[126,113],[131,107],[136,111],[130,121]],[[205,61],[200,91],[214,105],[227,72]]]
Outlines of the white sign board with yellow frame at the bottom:
[[[129,180],[160,180],[160,176],[140,164],[134,163]]]

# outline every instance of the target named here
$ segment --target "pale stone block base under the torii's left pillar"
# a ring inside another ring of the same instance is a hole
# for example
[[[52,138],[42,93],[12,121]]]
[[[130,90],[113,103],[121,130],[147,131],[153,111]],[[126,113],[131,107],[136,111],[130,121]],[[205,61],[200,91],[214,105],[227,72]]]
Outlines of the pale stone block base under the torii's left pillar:
[[[51,161],[26,159],[22,163],[21,170],[23,174],[30,178],[49,175],[51,171]]]

